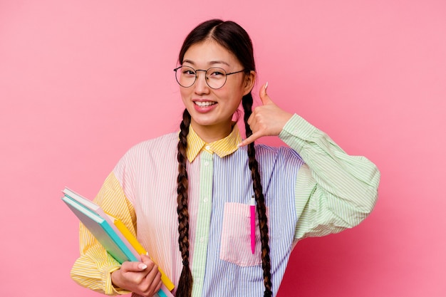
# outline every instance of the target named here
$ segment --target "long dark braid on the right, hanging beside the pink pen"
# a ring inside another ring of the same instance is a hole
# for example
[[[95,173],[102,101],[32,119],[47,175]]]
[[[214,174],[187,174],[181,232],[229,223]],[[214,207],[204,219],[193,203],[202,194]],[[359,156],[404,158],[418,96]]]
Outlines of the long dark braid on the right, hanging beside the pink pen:
[[[251,93],[245,95],[242,99],[244,109],[244,125],[247,137],[252,135],[251,127],[248,125],[249,116],[252,113],[252,95]],[[261,180],[259,174],[259,163],[256,160],[256,150],[254,149],[254,142],[248,145],[248,165],[251,170],[252,187],[254,189],[254,196],[256,198],[257,215],[259,216],[259,229],[261,240],[261,267],[264,271],[265,292],[264,297],[272,296],[271,291],[271,261],[269,259],[269,236],[268,236],[268,218],[266,217],[266,206],[263,189],[261,187]]]

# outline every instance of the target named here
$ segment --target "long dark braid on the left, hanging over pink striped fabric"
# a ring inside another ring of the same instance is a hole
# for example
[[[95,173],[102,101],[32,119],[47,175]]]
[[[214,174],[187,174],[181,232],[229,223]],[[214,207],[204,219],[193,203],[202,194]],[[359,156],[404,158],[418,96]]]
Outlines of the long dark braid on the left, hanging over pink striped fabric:
[[[189,181],[186,170],[187,134],[189,133],[190,113],[185,110],[180,125],[180,141],[178,142],[178,177],[177,177],[177,213],[178,213],[178,244],[182,256],[183,268],[177,286],[177,297],[192,295],[192,273],[189,266],[189,212],[187,211],[187,189]]]

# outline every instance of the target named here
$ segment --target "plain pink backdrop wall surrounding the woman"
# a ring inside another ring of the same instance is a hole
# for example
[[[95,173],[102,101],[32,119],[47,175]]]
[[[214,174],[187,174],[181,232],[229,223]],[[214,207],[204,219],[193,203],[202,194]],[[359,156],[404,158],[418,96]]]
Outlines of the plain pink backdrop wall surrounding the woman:
[[[269,81],[382,172],[375,212],[301,241],[279,297],[446,296],[446,2],[153,3],[0,1],[1,296],[99,296],[69,277],[78,220],[60,191],[93,198],[129,147],[178,129],[177,53],[214,17],[250,33],[256,94]]]

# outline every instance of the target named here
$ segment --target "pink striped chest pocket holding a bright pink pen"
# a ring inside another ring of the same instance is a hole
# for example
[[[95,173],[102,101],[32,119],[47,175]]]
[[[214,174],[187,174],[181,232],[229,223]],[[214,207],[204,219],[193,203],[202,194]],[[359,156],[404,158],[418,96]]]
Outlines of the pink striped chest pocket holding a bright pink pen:
[[[266,208],[268,217],[268,208]],[[261,264],[259,220],[256,217],[256,249],[251,252],[251,221],[249,204],[224,204],[220,259],[239,266]]]

